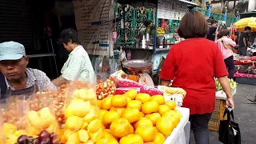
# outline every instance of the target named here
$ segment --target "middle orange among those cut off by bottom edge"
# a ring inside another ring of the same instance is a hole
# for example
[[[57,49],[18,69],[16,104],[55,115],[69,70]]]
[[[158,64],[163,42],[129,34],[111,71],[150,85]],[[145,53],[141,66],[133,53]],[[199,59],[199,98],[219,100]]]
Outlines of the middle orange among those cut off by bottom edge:
[[[139,134],[128,134],[122,137],[119,141],[120,144],[143,144],[143,138]]]

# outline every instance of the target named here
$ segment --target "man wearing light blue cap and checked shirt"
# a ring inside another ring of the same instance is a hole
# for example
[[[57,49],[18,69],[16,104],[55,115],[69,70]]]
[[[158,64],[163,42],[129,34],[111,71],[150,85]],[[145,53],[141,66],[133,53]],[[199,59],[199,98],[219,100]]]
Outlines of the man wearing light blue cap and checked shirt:
[[[18,42],[0,43],[1,98],[57,89],[41,70],[26,68],[28,60],[22,44]]]

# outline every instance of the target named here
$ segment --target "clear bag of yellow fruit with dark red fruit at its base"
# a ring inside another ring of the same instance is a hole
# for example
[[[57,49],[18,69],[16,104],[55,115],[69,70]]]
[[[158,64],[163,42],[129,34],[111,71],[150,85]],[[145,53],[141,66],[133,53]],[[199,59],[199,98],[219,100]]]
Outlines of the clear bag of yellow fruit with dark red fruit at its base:
[[[59,143],[58,120],[54,113],[54,98],[49,94],[35,95],[30,98],[26,110],[26,135],[21,142],[34,143]],[[20,137],[21,138],[21,137]]]

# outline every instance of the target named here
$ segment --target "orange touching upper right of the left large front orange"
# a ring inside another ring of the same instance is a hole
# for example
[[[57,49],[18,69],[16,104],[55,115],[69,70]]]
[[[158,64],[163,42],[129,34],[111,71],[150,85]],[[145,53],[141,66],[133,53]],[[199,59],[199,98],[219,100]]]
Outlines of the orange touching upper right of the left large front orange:
[[[141,113],[138,109],[126,109],[122,111],[121,118],[126,118],[130,123],[137,122]]]

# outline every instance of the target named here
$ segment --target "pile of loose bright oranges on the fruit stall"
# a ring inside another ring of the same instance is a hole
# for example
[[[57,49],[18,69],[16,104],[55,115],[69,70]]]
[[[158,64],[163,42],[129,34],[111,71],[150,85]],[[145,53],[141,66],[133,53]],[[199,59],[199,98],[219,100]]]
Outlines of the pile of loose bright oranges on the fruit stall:
[[[136,90],[98,100],[98,106],[104,130],[97,144],[162,144],[182,118],[174,101]]]

